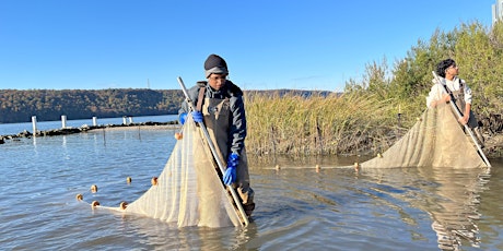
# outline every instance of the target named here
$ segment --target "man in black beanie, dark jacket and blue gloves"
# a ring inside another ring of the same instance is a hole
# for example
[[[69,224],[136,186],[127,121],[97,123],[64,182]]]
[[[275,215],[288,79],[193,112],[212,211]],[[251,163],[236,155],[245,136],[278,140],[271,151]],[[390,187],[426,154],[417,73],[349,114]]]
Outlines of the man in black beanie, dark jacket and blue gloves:
[[[223,159],[226,169],[223,182],[236,188],[245,213],[250,216],[255,208],[254,190],[249,187],[248,160],[245,150],[246,116],[243,92],[229,81],[227,64],[218,55],[210,55],[204,61],[207,81],[188,89],[196,110],[190,111],[184,101],[179,109],[179,121],[185,123],[191,112],[195,122],[204,122],[211,140]],[[197,157],[197,156],[196,156]]]

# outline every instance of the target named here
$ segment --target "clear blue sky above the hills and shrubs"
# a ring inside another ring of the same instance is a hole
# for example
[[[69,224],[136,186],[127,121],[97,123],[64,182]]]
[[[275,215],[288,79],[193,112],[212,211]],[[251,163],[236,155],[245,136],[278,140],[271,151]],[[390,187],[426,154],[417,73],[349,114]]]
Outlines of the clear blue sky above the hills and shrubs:
[[[495,0],[0,0],[0,89],[179,88],[222,56],[244,89],[342,91]]]

